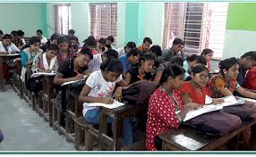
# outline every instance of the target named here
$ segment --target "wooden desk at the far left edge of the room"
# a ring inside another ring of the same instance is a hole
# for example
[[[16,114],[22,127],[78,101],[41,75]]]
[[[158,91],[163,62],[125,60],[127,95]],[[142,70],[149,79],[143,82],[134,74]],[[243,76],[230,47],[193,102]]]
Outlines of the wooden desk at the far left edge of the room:
[[[0,92],[5,91],[3,63],[18,57],[20,57],[20,54],[0,54]]]

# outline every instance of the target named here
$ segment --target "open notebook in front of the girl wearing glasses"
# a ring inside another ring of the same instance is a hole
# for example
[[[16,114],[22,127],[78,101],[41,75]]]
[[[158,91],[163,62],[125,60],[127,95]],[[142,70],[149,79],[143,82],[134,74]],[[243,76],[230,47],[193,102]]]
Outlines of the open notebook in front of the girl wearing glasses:
[[[236,99],[234,95],[226,96],[222,98],[224,100],[224,103],[218,103],[217,105],[220,105],[222,107],[226,106],[232,106],[232,105],[238,105],[238,104],[243,104],[244,100],[243,99]],[[209,97],[208,95],[205,96],[205,103],[209,104],[212,103],[212,98]]]

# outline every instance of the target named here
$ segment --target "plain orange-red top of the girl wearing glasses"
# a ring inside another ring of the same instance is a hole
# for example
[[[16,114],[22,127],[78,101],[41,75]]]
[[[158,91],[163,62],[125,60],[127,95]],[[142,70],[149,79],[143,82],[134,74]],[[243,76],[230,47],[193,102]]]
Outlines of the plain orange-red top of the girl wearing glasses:
[[[207,87],[201,87],[201,94],[198,93],[194,87],[190,84],[190,82],[184,82],[183,86],[180,89],[181,95],[184,96],[190,96],[192,98],[192,103],[199,103],[204,104],[205,103],[205,96],[209,95],[211,96],[211,91]]]

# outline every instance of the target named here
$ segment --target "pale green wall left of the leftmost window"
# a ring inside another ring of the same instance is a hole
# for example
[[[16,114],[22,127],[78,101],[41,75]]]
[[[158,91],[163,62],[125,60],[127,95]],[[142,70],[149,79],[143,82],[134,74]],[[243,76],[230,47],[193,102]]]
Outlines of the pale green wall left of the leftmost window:
[[[0,29],[9,34],[12,30],[22,29],[26,37],[35,36],[37,29],[42,29],[47,35],[45,9],[46,4],[43,3],[1,3]]]

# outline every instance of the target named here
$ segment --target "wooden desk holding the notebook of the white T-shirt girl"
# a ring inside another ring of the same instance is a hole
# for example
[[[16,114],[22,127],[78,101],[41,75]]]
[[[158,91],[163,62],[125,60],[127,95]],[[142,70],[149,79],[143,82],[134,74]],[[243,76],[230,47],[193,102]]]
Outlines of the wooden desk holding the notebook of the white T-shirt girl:
[[[136,107],[128,104],[117,107],[113,110],[100,107],[99,149],[120,151],[122,145],[123,120],[137,112],[138,109]],[[107,117],[114,119],[113,138],[107,136]]]

